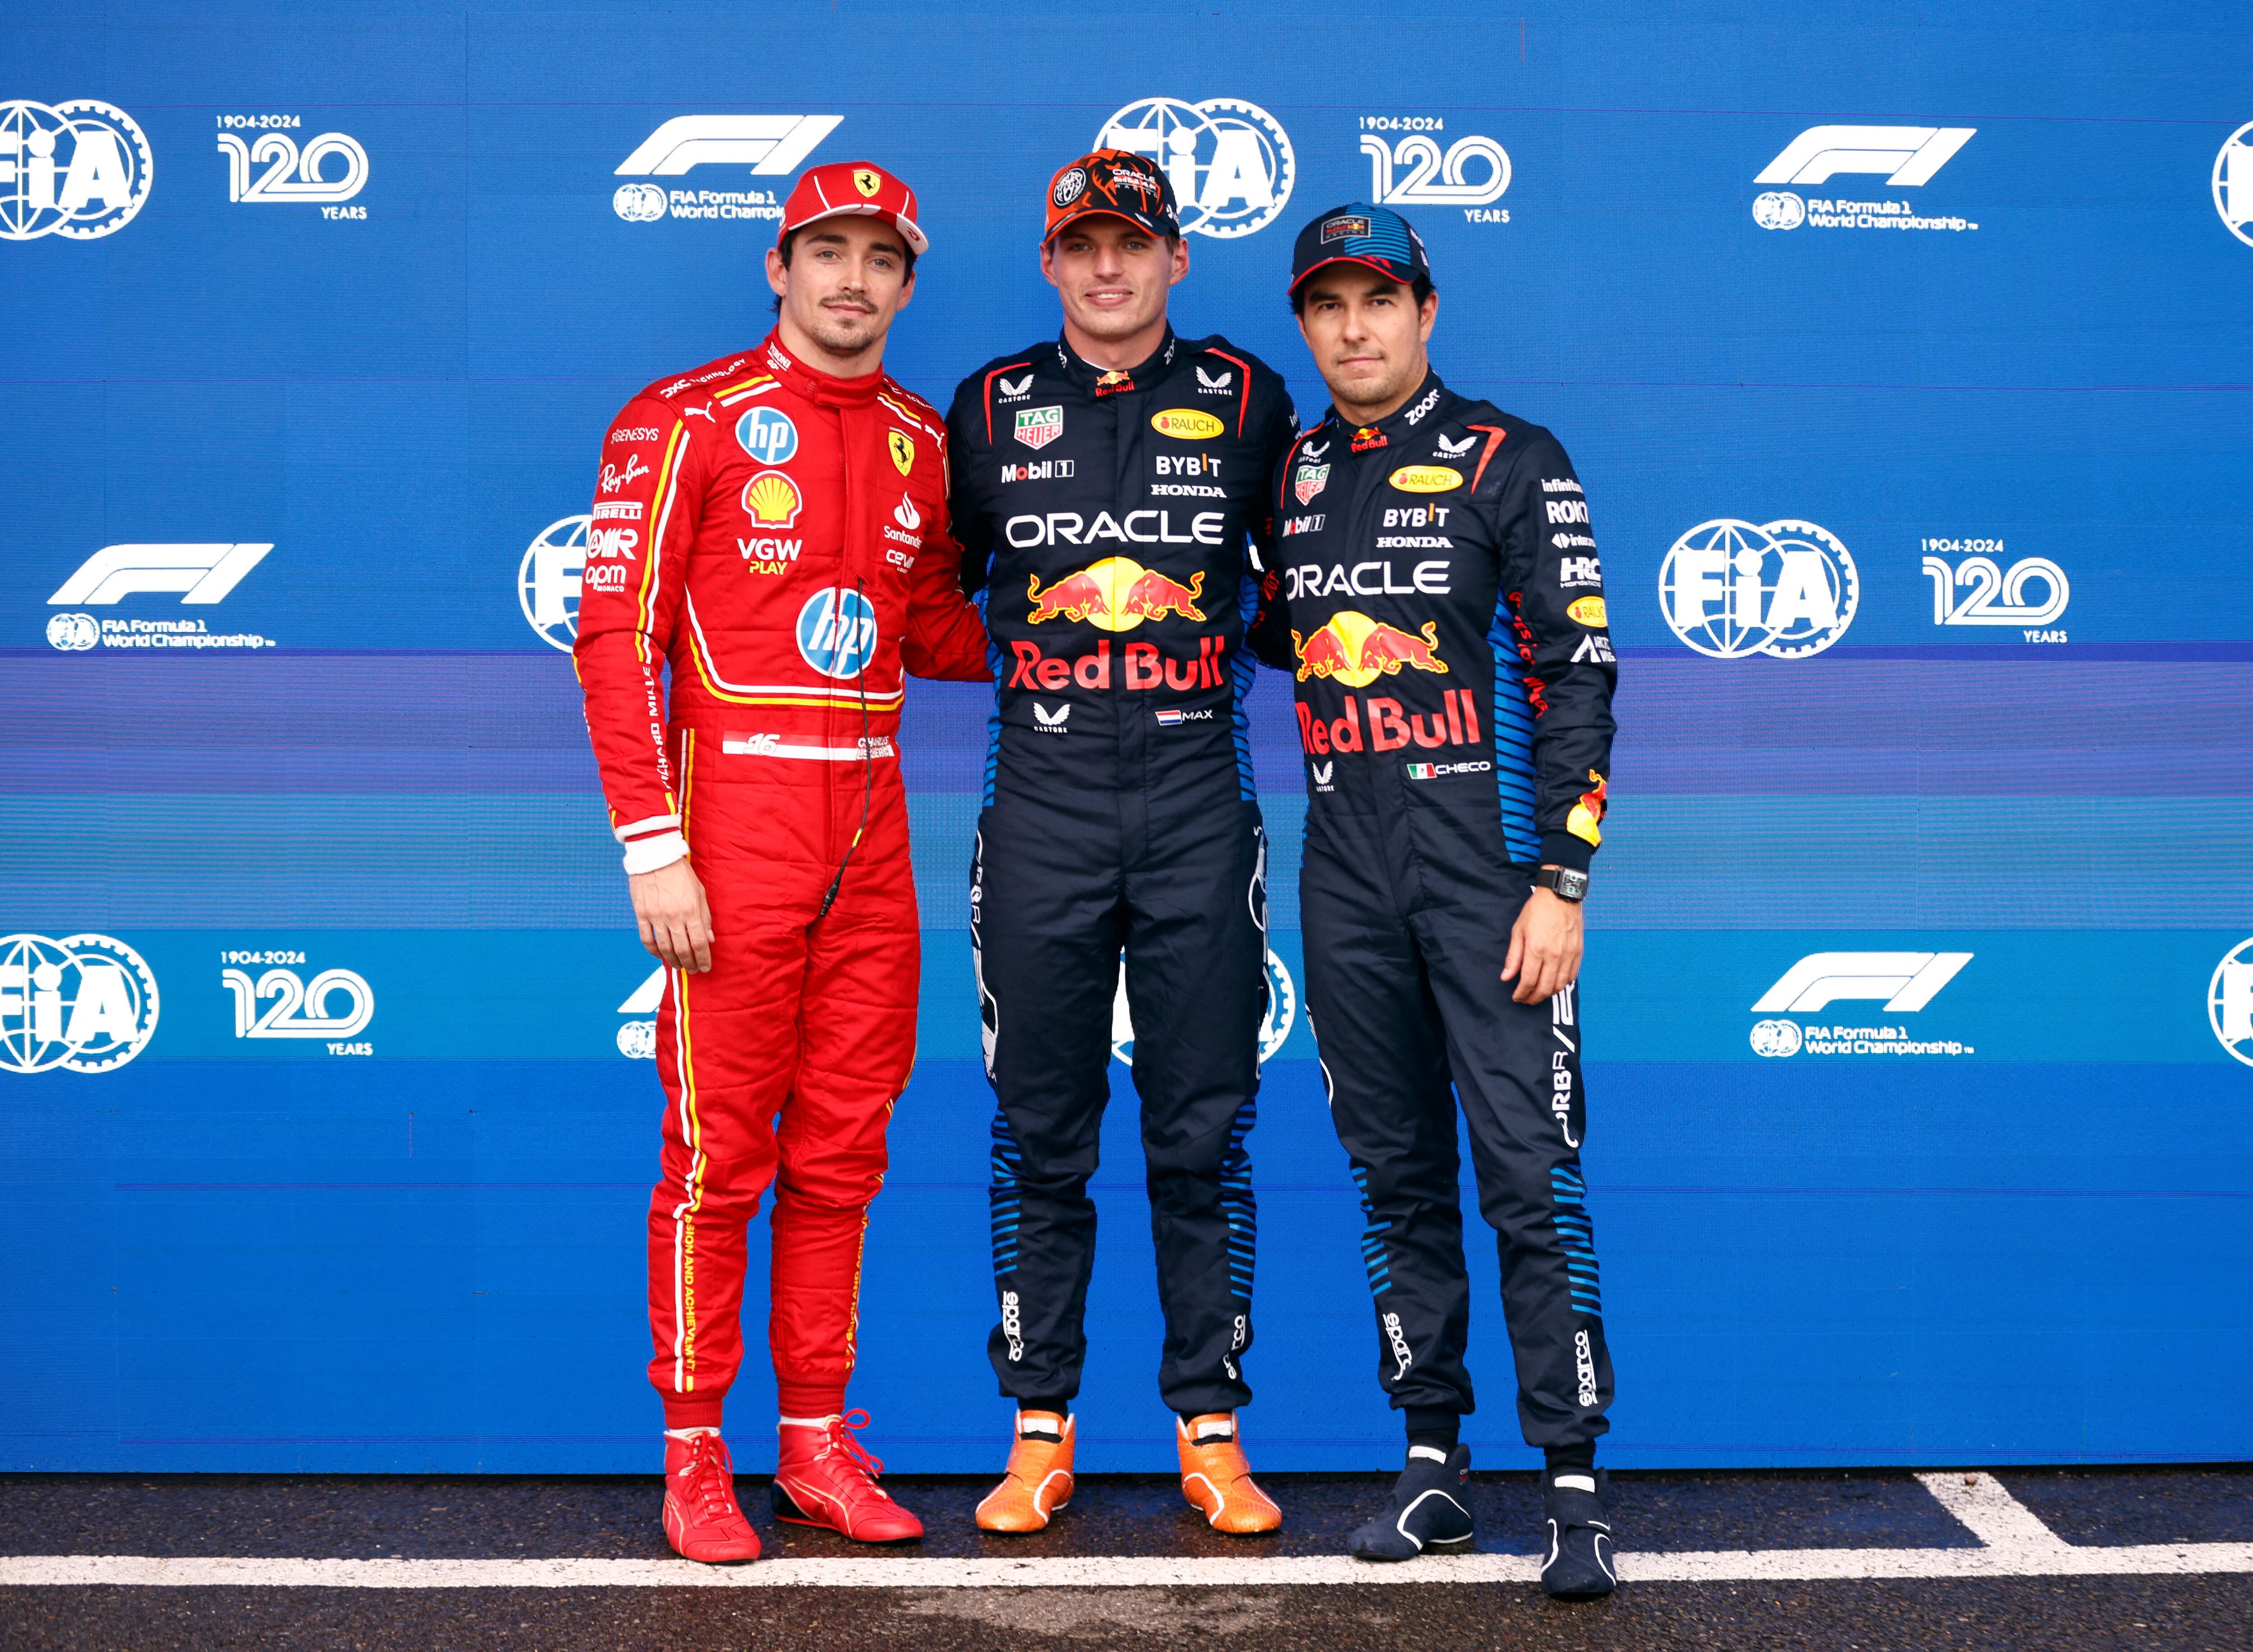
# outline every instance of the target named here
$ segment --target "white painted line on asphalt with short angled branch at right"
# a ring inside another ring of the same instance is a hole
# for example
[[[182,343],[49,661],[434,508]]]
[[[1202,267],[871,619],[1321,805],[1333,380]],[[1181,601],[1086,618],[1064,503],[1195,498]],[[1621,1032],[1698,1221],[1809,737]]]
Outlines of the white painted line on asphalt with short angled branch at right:
[[[1755,1548],[1620,1555],[1622,1582],[1820,1582],[1852,1578],[2118,1578],[2253,1571],[2253,1544],[2086,1548],[2043,1526],[1992,1474],[1920,1474],[1980,1548]],[[1969,1483],[1967,1483],[1969,1481]],[[1345,1555],[1192,1560],[1090,1555],[1041,1560],[164,1560],[158,1555],[5,1555],[0,1587],[126,1589],[1275,1589],[1309,1584],[1539,1580],[1532,1555],[1424,1555],[1368,1564]]]

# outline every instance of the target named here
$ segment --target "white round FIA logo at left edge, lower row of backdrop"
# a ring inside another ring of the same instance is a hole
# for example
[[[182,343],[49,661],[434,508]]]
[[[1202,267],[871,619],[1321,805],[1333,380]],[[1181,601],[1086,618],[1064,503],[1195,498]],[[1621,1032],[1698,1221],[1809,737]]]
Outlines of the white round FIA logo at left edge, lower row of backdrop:
[[[155,975],[106,934],[0,939],[0,1071],[108,1074],[155,1038]]]

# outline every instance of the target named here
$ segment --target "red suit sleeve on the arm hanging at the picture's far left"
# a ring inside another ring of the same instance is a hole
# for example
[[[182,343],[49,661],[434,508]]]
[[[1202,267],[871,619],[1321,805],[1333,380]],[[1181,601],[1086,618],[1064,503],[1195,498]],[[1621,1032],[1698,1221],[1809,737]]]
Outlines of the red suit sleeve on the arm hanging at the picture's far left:
[[[635,396],[602,441],[572,646],[626,871],[689,853],[665,749],[665,655],[701,509],[694,432],[662,401]]]

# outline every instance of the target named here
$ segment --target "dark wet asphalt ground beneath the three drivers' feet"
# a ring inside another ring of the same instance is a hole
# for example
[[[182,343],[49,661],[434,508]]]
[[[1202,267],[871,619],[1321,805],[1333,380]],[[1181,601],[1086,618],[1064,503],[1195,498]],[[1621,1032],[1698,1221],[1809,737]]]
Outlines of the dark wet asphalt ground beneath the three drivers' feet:
[[[2080,1548],[2253,1542],[2253,1467],[2001,1470],[2001,1488]],[[1048,1533],[982,1537],[982,1481],[890,1476],[930,1535],[883,1555],[933,1562],[1329,1557],[1383,1497],[1386,1476],[1264,1476],[1280,1533],[1228,1539],[1169,1476],[1088,1476]],[[1622,1548],[1980,1551],[1980,1537],[1908,1472],[1624,1474]],[[777,1524],[750,1474],[766,1560],[872,1551]],[[1953,1483],[1951,1483],[1953,1492]],[[671,1562],[656,1476],[0,1476],[0,1566],[32,1555],[198,1560]],[[1480,1548],[1532,1555],[1532,1476],[1473,1481]],[[2219,1553],[2219,1551],[2215,1551]],[[1359,1647],[2253,1647],[2253,1571],[2174,1575],[1825,1578],[1636,1582],[1611,1600],[1546,1600],[1532,1582],[1381,1580],[1210,1587],[0,1587],[0,1647],[1181,1647],[1228,1636],[1248,1652]],[[1476,1562],[1473,1562],[1476,1564]],[[1496,1562],[1505,1564],[1505,1562]],[[1516,1562],[1507,1562],[1516,1564]],[[0,1575],[7,1575],[0,1571]],[[257,1575],[257,1573],[246,1573]],[[660,1573],[662,1575],[662,1573]],[[768,1575],[784,1575],[780,1569]],[[1431,1573],[1424,1573],[1431,1575]]]

